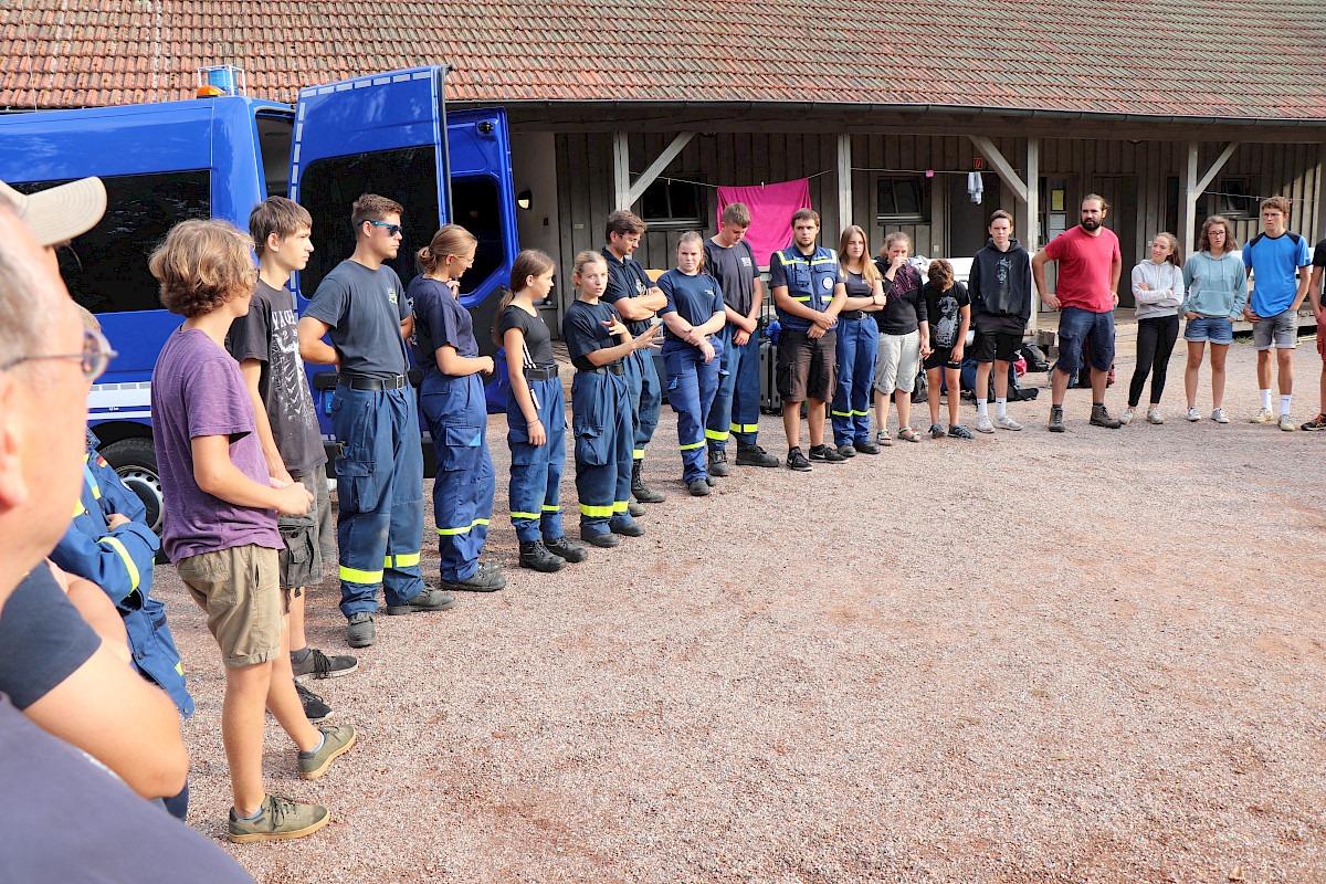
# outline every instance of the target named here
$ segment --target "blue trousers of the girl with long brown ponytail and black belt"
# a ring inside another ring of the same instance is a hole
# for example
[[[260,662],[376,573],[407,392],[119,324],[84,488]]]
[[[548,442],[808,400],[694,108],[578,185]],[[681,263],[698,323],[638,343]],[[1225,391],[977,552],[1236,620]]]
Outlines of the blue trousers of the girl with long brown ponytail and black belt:
[[[529,444],[529,425],[514,395],[507,396],[507,447],[511,448],[511,524],[521,543],[562,537],[561,484],[566,463],[566,400],[561,378],[530,380],[548,441]]]

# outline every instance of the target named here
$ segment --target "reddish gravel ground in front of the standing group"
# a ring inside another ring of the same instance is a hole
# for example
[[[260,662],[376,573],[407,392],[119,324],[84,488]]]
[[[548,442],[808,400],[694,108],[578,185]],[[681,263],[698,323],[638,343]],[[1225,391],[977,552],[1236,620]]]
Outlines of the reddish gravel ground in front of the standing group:
[[[220,664],[159,567],[198,700],[190,823],[264,883],[1326,880],[1326,433],[1246,423],[1246,342],[1233,423],[1187,423],[1181,350],[1163,427],[1089,427],[1070,391],[1053,436],[1042,391],[1021,433],[735,469],[699,500],[664,408],[648,533],[554,575],[516,567],[495,417],[511,586],[379,616],[361,672],[313,685],[361,728],[328,777],[297,779],[271,722],[269,789],[333,812],[302,840],[221,840]],[[1303,420],[1310,341],[1296,366]],[[1115,414],[1131,343],[1118,367]],[[335,600],[329,569],[309,632],[345,652]]]

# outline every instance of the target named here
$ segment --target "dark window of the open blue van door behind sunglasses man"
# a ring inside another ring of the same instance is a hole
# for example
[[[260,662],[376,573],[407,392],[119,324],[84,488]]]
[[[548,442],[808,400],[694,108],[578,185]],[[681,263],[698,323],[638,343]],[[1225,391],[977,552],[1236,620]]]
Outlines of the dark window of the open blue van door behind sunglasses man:
[[[400,252],[387,266],[408,284],[416,276],[414,253],[438,232],[438,151],[435,147],[349,154],[314,160],[300,174],[298,203],[313,216],[309,265],[300,270],[300,294],[312,298],[318,284],[354,252],[350,208],[361,193],[400,203]]]

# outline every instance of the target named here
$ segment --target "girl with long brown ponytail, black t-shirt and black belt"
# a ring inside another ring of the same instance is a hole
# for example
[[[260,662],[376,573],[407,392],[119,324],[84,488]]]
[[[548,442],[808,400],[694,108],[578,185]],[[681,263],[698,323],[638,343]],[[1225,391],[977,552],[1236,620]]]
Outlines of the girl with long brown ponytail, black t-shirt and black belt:
[[[511,293],[493,321],[493,339],[507,349],[507,445],[511,448],[511,524],[520,566],[560,571],[589,553],[562,530],[561,484],[566,464],[566,402],[553,359],[552,335],[534,300],[553,290],[545,252],[525,249],[511,266]]]

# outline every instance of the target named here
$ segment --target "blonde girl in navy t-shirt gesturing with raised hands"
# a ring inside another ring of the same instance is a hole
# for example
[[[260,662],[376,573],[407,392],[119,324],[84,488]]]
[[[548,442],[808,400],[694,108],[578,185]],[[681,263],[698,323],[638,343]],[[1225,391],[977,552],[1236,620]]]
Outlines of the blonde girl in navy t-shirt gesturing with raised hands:
[[[579,293],[562,315],[562,338],[575,366],[572,428],[581,539],[594,546],[617,546],[618,534],[644,533],[626,508],[631,497],[634,423],[622,360],[639,350],[658,347],[662,326],[650,323],[631,337],[613,305],[599,300],[607,289],[603,256],[577,254],[572,280]]]

